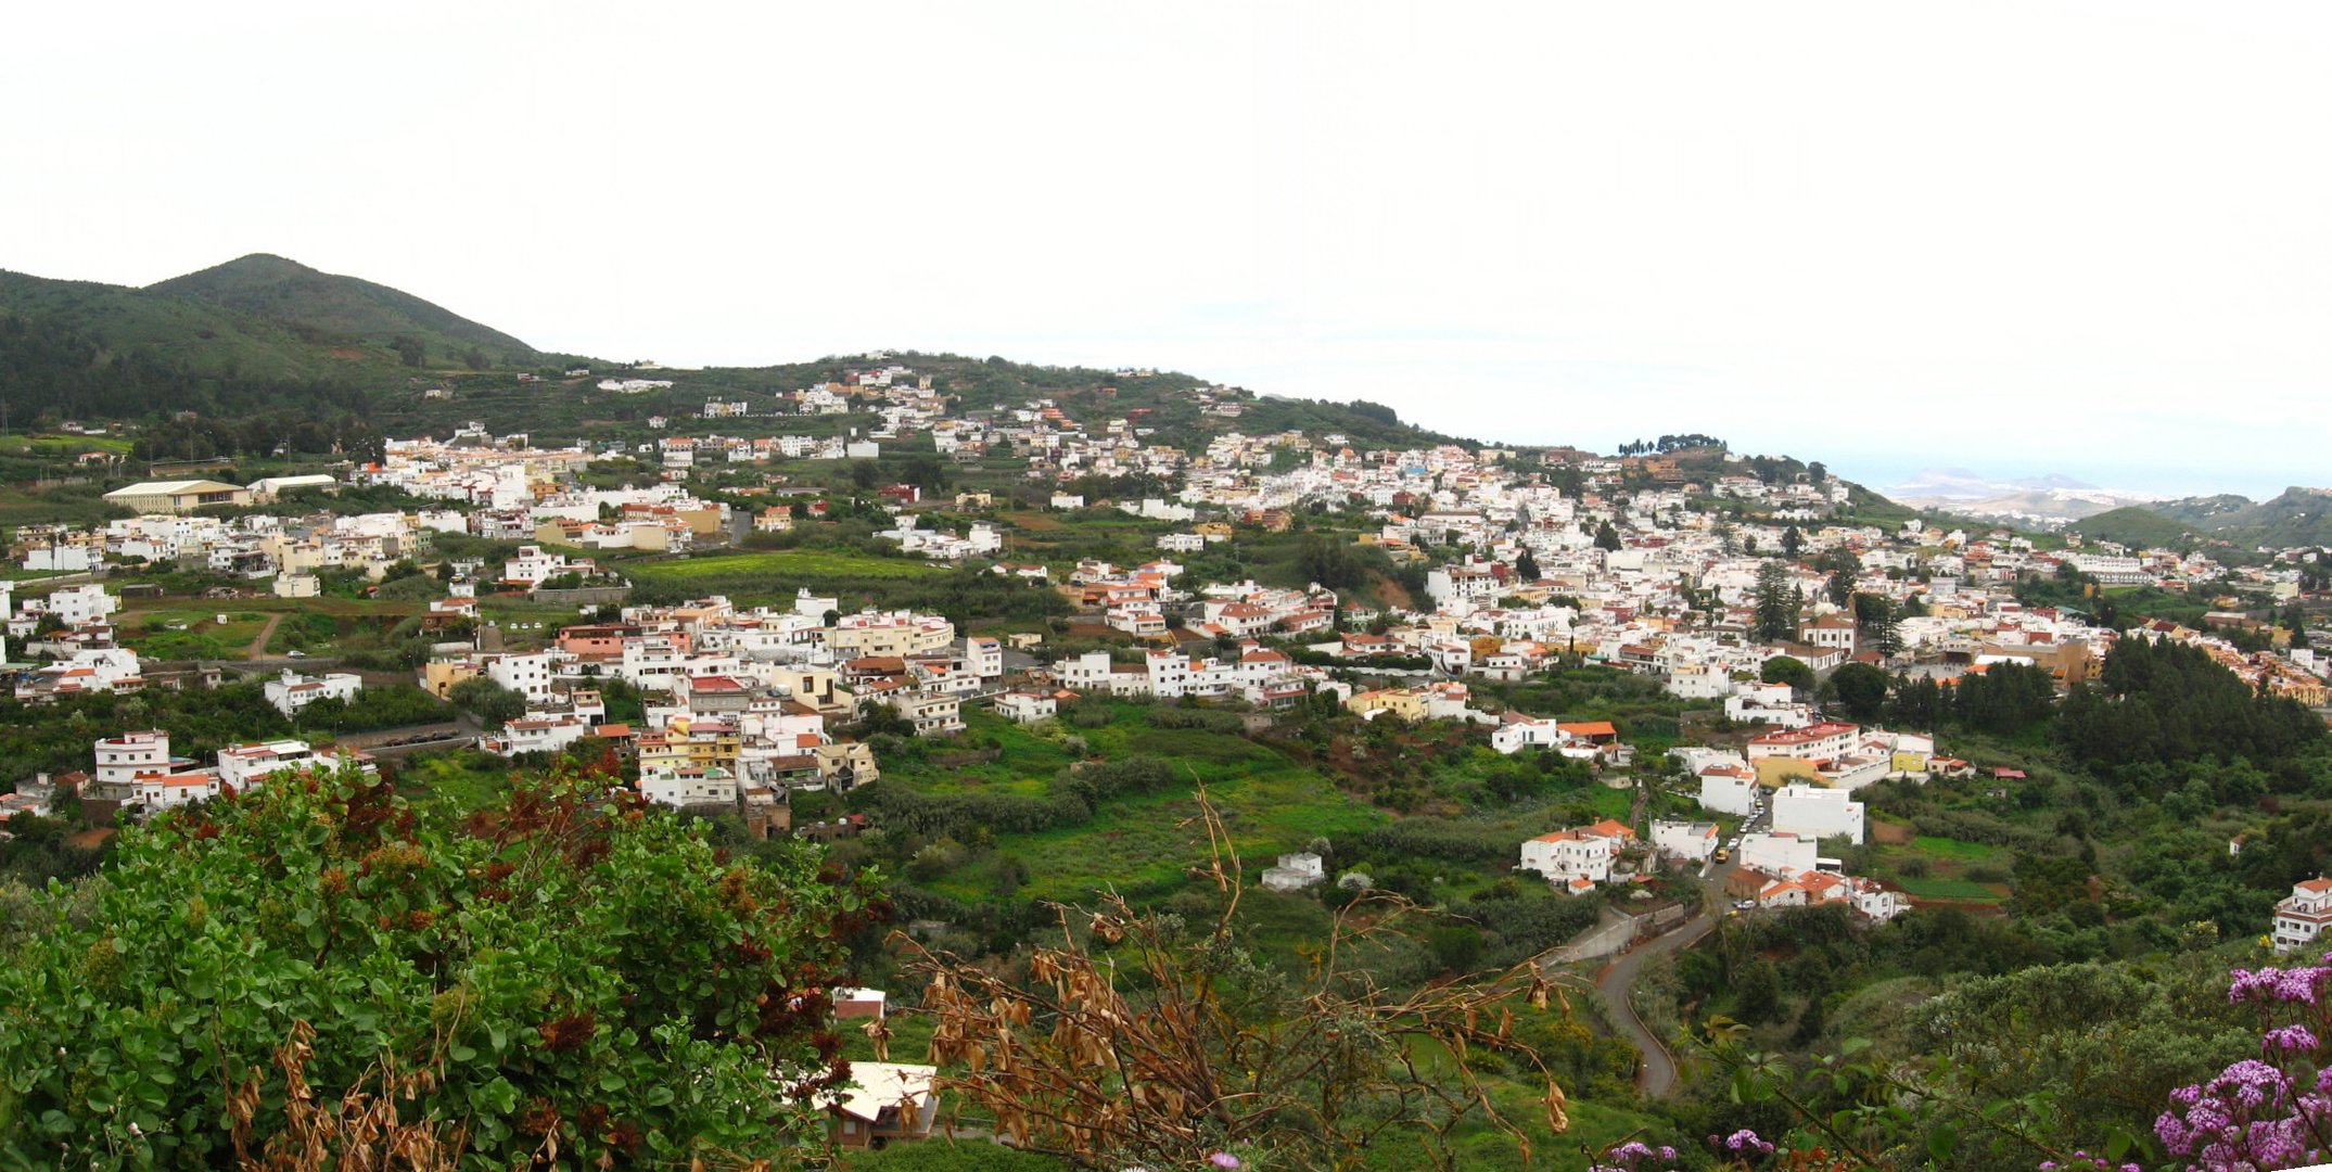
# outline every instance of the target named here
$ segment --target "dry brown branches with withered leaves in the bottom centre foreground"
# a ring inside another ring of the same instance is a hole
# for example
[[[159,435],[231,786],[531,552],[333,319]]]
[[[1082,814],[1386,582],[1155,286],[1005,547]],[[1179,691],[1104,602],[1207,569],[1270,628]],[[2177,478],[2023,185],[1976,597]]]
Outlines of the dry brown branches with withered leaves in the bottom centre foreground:
[[[1271,1167],[1353,1167],[1388,1128],[1418,1128],[1439,1144],[1478,1118],[1527,1158],[1523,1128],[1464,1060],[1471,1051],[1534,1069],[1548,1125],[1569,1125],[1544,1058],[1513,1037],[1518,1002],[1525,1014],[1551,1011],[1537,958],[1474,981],[1385,990],[1343,958],[1420,909],[1371,895],[1371,916],[1334,918],[1308,972],[1255,965],[1234,932],[1238,860],[1203,790],[1194,822],[1208,862],[1192,874],[1224,895],[1206,927],[1103,892],[1094,909],[1054,906],[1059,944],[1035,948],[1024,979],[895,937],[909,972],[928,981],[921,1011],[933,1016],[942,1086],[991,1114],[998,1135],[1089,1165],[1203,1167],[1210,1153],[1236,1151]]]

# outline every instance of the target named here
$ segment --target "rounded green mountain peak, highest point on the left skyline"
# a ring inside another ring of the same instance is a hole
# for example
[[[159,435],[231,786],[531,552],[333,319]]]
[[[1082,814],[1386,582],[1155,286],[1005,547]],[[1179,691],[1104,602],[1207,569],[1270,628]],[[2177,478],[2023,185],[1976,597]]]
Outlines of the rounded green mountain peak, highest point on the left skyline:
[[[145,291],[240,310],[319,345],[371,343],[394,350],[401,340],[415,343],[422,347],[415,366],[462,366],[471,350],[501,368],[529,366],[539,356],[527,343],[413,294],[317,273],[264,252],[149,284]]]

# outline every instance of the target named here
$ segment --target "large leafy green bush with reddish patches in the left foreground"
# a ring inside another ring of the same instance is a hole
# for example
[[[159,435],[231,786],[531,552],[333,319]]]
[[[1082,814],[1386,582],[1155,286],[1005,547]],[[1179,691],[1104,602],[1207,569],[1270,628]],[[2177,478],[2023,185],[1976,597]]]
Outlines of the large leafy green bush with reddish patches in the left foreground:
[[[455,820],[280,776],[126,829],[0,965],[0,1165],[784,1156],[863,902],[807,846],[728,864],[606,785]]]

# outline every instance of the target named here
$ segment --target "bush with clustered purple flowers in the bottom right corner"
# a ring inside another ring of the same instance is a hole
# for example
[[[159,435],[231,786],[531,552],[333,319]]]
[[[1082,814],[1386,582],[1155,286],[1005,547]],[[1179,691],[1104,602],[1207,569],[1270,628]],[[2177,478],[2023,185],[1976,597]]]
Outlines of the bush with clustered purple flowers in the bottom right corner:
[[[2208,1172],[2325,1163],[2332,1153],[2332,953],[2325,965],[2234,969],[2227,1000],[2260,1009],[2260,1053],[2171,1093],[2155,1135]]]

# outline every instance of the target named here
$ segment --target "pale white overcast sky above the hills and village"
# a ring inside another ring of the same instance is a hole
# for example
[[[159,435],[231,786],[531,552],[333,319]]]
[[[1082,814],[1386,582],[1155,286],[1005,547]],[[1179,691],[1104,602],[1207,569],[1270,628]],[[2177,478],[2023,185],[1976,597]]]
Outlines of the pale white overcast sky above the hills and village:
[[[2332,482],[2332,5],[37,5],[0,268],[1476,438]]]

